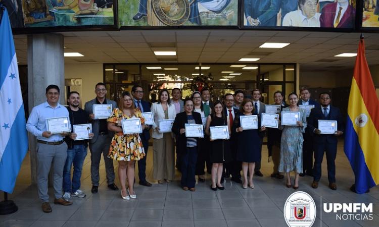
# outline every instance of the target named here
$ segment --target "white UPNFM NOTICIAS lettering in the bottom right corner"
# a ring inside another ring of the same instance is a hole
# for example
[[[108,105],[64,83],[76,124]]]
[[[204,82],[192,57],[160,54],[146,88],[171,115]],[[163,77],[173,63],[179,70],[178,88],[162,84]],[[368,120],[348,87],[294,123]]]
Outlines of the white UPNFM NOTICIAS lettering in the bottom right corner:
[[[336,213],[336,220],[372,220],[372,203],[324,203],[325,213]]]

